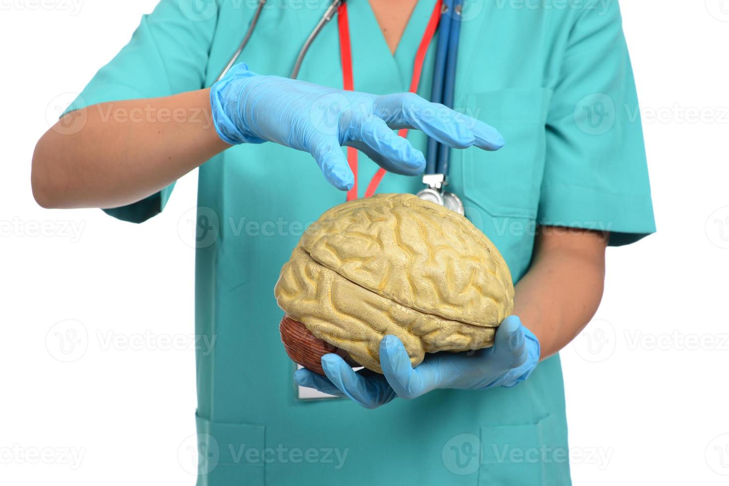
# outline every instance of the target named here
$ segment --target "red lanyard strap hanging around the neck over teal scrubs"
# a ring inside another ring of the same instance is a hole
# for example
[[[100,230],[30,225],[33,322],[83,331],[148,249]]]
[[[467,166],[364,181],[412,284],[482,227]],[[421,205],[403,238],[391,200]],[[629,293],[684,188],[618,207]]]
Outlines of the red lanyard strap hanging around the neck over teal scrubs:
[[[442,8],[442,0],[435,2],[433,13],[430,15],[430,20],[425,28],[423,38],[418,46],[418,51],[415,56],[415,65],[413,66],[413,77],[410,79],[410,93],[417,93],[418,84],[420,83],[420,75],[423,71],[423,63],[425,55],[428,52],[428,46],[430,41],[433,39],[436,29],[438,28],[438,22],[440,21],[440,11]],[[352,74],[352,46],[349,40],[349,19],[347,17],[347,3],[346,1],[340,4],[337,11],[337,22],[339,26],[339,47],[342,58],[342,78],[344,90],[354,91],[354,75]],[[397,135],[401,137],[408,136],[408,129],[402,128],[398,130]],[[354,186],[347,192],[347,200],[351,201],[357,198],[357,150],[351,146],[347,147],[347,162],[349,168],[354,174]],[[373,178],[370,180],[370,184],[367,186],[367,190],[364,192],[364,197],[370,197],[375,194],[380,181],[385,175],[386,171],[383,168],[379,168]]]

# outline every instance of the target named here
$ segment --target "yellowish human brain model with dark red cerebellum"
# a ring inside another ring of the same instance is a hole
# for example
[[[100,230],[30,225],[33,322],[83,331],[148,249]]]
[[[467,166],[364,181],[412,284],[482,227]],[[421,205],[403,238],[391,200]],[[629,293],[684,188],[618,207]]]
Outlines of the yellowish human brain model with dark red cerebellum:
[[[509,269],[466,218],[414,195],[338,205],[305,231],[276,300],[289,356],[323,374],[321,356],[382,372],[380,341],[399,337],[413,367],[425,353],[488,348],[512,311]]]

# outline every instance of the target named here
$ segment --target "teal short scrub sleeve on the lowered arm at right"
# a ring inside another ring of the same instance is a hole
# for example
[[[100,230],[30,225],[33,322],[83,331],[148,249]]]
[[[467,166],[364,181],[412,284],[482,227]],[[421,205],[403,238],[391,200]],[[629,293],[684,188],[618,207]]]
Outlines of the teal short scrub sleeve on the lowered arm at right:
[[[586,3],[579,12],[554,86],[546,141],[539,224],[609,231],[611,246],[655,232],[617,2]]]

